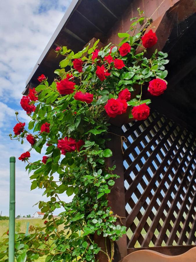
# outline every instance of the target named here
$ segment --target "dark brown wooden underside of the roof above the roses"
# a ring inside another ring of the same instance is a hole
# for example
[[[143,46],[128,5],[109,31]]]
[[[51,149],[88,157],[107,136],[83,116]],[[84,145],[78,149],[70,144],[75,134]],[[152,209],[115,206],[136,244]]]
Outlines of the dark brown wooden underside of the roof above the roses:
[[[59,68],[59,62],[63,59],[60,55],[56,58],[54,49],[57,46],[67,46],[68,49],[78,52],[92,38],[100,39],[103,44],[111,41],[118,44],[115,35],[129,29],[130,18],[137,15],[137,7],[141,7],[145,15],[152,16],[155,21],[166,21],[159,24],[157,36],[163,45],[161,47],[160,42],[157,48],[168,52],[170,60],[166,65],[168,89],[156,99],[150,97],[152,105],[174,120],[176,118],[186,128],[194,130],[196,128],[194,0],[188,2],[186,0],[73,0],[28,77],[24,94],[28,93],[29,85],[39,84],[37,77],[41,74],[48,77],[48,82],[53,81],[54,70]],[[146,92],[146,97],[148,93]]]

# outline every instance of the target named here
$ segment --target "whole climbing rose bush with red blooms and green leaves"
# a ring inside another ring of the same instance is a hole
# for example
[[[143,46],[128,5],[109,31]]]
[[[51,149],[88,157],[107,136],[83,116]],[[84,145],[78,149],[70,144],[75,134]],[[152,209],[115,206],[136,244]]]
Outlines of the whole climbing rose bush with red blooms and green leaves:
[[[143,20],[140,13],[129,32],[118,34],[122,38],[118,46],[97,48],[96,41],[78,53],[57,47],[54,52],[63,59],[54,81],[48,83],[45,75],[37,76],[40,84],[22,97],[21,107],[31,121],[27,128],[16,112],[18,123],[10,137],[30,143],[19,160],[27,162],[31,190],[41,188],[48,197],[37,203],[45,213],[43,219],[48,220],[41,227],[30,226],[29,235],[16,233],[17,261],[39,261],[46,255],[48,262],[94,262],[98,252],[113,260],[114,242],[126,233],[126,227],[107,200],[119,177],[116,167],[106,163],[112,156],[107,148],[109,118],[122,114],[130,121],[148,118],[150,99],[143,99],[143,90],[161,95],[167,85],[163,80],[167,54],[155,50],[149,59],[145,56],[146,48],[157,42],[152,30],[145,33],[149,21],[134,34]],[[140,53],[139,46],[143,47]],[[30,157],[33,150],[37,151],[35,162]],[[72,196],[72,201],[64,202],[63,195]],[[54,217],[58,208],[64,211]],[[108,238],[111,250],[101,249],[94,234]],[[4,256],[6,252],[1,253]]]

